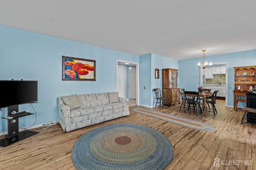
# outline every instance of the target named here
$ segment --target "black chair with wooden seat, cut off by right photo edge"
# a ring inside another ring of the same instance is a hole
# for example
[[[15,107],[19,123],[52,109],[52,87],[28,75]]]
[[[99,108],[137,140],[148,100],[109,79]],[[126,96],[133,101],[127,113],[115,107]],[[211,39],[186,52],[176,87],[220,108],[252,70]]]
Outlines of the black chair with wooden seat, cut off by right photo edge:
[[[256,124],[256,93],[247,92],[246,93],[246,107],[242,108],[244,110],[244,116],[242,118],[241,126],[243,123]],[[244,122],[244,120],[246,122]]]

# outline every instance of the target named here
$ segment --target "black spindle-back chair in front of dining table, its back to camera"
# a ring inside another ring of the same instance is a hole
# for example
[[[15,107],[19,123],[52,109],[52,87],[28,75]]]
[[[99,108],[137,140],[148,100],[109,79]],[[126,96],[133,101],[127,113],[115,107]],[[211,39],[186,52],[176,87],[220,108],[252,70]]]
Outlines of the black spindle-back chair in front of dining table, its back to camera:
[[[185,113],[186,113],[186,111],[191,112],[191,106],[193,106],[193,108],[196,110],[197,115],[199,116],[198,107],[200,108],[200,111],[202,113],[202,109],[200,107],[200,102],[198,102],[199,92],[184,91],[184,94],[185,94],[186,103],[187,103]]]

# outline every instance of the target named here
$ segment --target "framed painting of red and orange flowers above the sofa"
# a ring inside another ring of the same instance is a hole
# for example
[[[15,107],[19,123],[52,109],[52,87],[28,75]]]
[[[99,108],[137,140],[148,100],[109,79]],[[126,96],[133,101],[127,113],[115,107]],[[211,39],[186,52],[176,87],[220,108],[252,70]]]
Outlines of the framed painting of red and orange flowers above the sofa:
[[[62,80],[96,81],[96,61],[62,56]]]

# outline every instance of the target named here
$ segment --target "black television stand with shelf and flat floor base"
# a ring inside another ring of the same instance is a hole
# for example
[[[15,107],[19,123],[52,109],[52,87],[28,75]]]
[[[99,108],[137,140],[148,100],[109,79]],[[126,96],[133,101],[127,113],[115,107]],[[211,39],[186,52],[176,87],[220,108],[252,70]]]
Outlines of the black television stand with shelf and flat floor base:
[[[15,107],[15,108],[13,108],[13,107]],[[17,107],[18,106],[12,106],[12,108],[10,108],[10,109],[8,107],[8,117],[13,116],[13,114],[10,114],[11,110],[18,111]],[[26,138],[38,133],[36,131],[29,131],[29,130],[19,132],[19,118],[27,116],[27,115],[32,115],[32,114],[34,114],[34,113],[26,112],[26,114],[20,114],[20,115],[17,114],[17,115],[15,115],[16,117],[14,116],[12,119],[2,117],[2,119],[7,119],[7,121],[8,121],[8,133],[4,139],[0,139],[0,147],[7,147],[9,145],[12,145],[18,141],[21,141],[23,139],[26,139]]]

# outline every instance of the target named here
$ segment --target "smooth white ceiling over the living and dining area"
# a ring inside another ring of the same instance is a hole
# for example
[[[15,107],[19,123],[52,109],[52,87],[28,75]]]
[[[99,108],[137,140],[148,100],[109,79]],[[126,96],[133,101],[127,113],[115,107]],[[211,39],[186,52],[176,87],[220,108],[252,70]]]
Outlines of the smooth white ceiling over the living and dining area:
[[[0,0],[0,24],[176,60],[256,49],[255,0]]]

